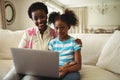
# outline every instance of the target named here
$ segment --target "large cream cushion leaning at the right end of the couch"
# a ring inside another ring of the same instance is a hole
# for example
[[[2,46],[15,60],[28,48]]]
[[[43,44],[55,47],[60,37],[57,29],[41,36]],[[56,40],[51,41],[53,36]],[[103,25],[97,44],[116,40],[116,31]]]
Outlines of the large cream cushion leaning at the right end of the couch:
[[[107,41],[96,65],[120,74],[120,31],[116,31]]]

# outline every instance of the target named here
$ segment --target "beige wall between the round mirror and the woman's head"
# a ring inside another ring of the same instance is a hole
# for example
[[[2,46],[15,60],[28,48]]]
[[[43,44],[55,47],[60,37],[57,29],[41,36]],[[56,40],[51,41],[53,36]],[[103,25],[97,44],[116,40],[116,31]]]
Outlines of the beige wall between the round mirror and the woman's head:
[[[15,22],[12,25],[8,25],[7,29],[21,30],[35,26],[33,21],[28,17],[28,7],[36,1],[41,0],[11,0],[16,9]],[[49,9],[48,9],[49,10]]]

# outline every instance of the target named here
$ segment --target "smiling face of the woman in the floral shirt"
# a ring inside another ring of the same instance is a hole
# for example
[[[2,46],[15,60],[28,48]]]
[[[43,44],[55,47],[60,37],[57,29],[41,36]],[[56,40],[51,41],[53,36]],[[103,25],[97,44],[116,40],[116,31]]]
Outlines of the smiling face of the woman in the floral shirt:
[[[35,10],[32,12],[32,19],[35,25],[38,27],[39,30],[45,30],[47,28],[47,14],[44,10]]]

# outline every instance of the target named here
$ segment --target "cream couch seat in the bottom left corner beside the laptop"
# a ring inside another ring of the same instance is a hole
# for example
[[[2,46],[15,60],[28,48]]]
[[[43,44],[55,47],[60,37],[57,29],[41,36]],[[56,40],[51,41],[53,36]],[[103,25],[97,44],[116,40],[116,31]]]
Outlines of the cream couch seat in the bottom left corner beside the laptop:
[[[12,60],[0,60],[0,80],[9,72],[12,66]]]

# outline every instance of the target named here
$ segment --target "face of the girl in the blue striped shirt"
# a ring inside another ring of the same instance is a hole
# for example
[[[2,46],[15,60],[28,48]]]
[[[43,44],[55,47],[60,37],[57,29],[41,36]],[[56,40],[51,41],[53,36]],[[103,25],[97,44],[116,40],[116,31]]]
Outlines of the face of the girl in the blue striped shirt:
[[[54,25],[55,25],[55,31],[57,33],[57,36],[60,38],[60,40],[64,41],[68,39],[69,26],[61,20],[55,21]]]

